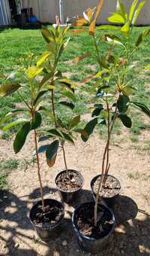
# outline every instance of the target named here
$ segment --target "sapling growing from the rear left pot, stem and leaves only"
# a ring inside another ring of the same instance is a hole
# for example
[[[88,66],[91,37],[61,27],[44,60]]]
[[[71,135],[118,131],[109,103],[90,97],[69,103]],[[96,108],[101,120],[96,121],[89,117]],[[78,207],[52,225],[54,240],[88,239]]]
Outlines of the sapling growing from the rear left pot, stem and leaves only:
[[[41,29],[41,32],[43,34],[43,38],[45,38],[46,42],[48,43],[46,45],[46,55],[49,55],[47,59],[44,59],[44,61],[41,63],[40,66],[43,67],[43,72],[45,72],[45,75],[43,76],[43,79],[41,81],[41,84],[45,84],[45,86],[49,89],[49,93],[51,94],[50,98],[50,105],[51,108],[43,108],[43,111],[45,114],[51,113],[51,119],[52,123],[54,124],[54,127],[51,127],[51,129],[46,130],[46,135],[49,135],[53,137],[54,139],[59,139],[60,147],[62,148],[64,162],[65,162],[65,169],[68,173],[68,178],[71,184],[71,178],[68,172],[68,165],[66,160],[66,154],[65,154],[65,141],[71,142],[74,144],[74,140],[72,139],[72,133],[71,129],[74,126],[77,126],[77,124],[80,122],[80,116],[74,117],[73,120],[70,120],[68,124],[65,124],[62,122],[60,118],[58,118],[56,110],[55,110],[55,98],[59,99],[60,97],[65,98],[65,101],[60,101],[58,104],[65,105],[68,108],[71,108],[71,110],[74,108],[74,103],[76,101],[76,96],[74,95],[74,84],[71,80],[64,77],[62,72],[58,70],[58,64],[60,61],[60,57],[62,56],[62,53],[65,50],[65,47],[68,45],[68,42],[70,41],[70,38],[67,37],[69,26],[66,26],[65,29],[60,29],[60,25],[54,28],[46,28],[43,27]],[[44,54],[44,53],[43,53]],[[69,99],[69,101],[66,101],[66,98]],[[72,123],[72,126],[71,126]],[[49,147],[51,147],[49,145]],[[47,158],[47,151],[49,151],[49,147],[46,149],[46,158]],[[49,166],[52,166],[55,163],[55,157],[58,150],[58,144],[53,144],[53,148],[51,148],[54,152],[53,159],[50,160],[47,159],[47,163]],[[40,148],[41,150],[41,148]]]

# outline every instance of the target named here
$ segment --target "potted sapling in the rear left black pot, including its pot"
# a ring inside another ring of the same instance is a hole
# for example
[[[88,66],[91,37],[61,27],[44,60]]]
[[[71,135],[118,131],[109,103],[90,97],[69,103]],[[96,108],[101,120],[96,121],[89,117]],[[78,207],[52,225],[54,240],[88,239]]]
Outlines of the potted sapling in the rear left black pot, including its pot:
[[[74,132],[77,125],[80,123],[80,115],[73,117],[69,111],[68,115],[71,116],[71,118],[68,118],[67,121],[63,122],[57,114],[57,105],[63,105],[64,107],[70,108],[72,111],[77,100],[74,94],[74,84],[70,79],[63,76],[62,72],[58,71],[59,59],[70,40],[70,38],[66,37],[68,29],[69,28],[66,27],[61,30],[59,25],[55,28],[55,33],[53,32],[53,29],[47,29],[46,27],[42,29],[43,37],[48,43],[46,48],[47,53],[49,53],[49,58],[48,62],[47,59],[43,62],[45,76],[43,77],[41,84],[44,82],[45,86],[49,89],[51,97],[49,101],[50,108],[43,107],[40,109],[48,118],[51,118],[52,125],[46,126],[46,129],[43,129],[45,136],[42,136],[40,140],[56,139],[55,142],[52,142],[52,146],[54,147],[52,149],[54,152],[53,160],[49,163],[49,154],[47,152],[49,152],[50,145],[49,147],[47,145],[44,147],[42,146],[39,149],[40,151],[46,151],[46,161],[49,166],[52,166],[53,163],[55,163],[58,147],[62,148],[65,170],[58,173],[55,178],[55,184],[65,203],[73,202],[78,197],[78,194],[83,187],[83,175],[77,170],[68,169],[65,154],[65,142],[70,142],[74,145]]]

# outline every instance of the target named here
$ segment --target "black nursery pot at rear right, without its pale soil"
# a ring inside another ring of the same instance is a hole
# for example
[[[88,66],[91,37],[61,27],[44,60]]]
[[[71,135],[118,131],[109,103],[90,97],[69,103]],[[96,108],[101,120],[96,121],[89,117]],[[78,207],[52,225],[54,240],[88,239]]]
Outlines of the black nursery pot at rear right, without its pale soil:
[[[95,176],[94,178],[92,178],[92,181],[90,183],[94,200],[96,200],[96,194],[95,194],[95,191],[94,191],[94,184],[95,184],[95,181],[97,181],[98,178],[100,178],[100,177],[101,177],[101,175]],[[115,195],[111,196],[111,197],[103,197],[102,196],[101,198],[104,200],[104,202],[107,204],[107,206],[113,207],[114,204],[115,204],[115,200],[117,200],[117,198],[119,196],[119,191],[121,189],[121,184],[120,184],[120,181],[118,181],[118,179],[115,178],[113,175],[107,175],[107,177],[113,178],[116,181],[116,183],[118,184],[117,185],[117,187],[118,187],[117,193]]]

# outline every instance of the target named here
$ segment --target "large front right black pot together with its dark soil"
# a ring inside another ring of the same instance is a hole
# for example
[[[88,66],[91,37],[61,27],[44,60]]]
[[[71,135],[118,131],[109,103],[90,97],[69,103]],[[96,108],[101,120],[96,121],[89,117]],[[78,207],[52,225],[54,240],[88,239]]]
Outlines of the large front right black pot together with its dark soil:
[[[94,210],[95,203],[83,203],[75,209],[72,221],[83,251],[99,253],[109,242],[115,228],[115,217],[107,206],[98,205],[98,222],[95,227]]]

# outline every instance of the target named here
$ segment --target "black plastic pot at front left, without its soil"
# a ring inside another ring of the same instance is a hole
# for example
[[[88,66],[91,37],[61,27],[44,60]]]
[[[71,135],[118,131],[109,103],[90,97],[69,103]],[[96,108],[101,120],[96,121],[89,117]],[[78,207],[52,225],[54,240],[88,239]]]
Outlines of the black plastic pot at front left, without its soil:
[[[46,228],[40,227],[38,224],[34,224],[33,219],[34,215],[38,212],[37,206],[41,206],[42,201],[38,201],[37,203],[32,206],[30,213],[29,213],[29,219],[31,221],[31,224],[33,225],[34,229],[37,231],[37,235],[42,239],[43,241],[49,241],[49,239],[53,239],[54,237],[59,236],[59,234],[62,232],[61,224],[65,215],[64,206],[62,203],[58,202],[57,200],[52,199],[45,199],[44,205],[45,206],[57,206],[60,209],[63,209],[62,218],[60,221],[58,221],[54,225],[49,225]]]

